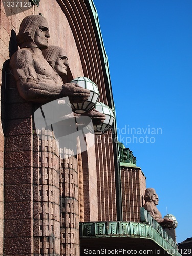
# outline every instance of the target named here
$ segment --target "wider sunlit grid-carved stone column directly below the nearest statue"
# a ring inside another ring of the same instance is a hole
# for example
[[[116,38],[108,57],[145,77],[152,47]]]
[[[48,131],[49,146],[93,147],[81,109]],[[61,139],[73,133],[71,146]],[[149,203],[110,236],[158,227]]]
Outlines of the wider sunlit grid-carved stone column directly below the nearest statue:
[[[35,255],[60,255],[59,153],[51,131],[33,137],[33,235]]]

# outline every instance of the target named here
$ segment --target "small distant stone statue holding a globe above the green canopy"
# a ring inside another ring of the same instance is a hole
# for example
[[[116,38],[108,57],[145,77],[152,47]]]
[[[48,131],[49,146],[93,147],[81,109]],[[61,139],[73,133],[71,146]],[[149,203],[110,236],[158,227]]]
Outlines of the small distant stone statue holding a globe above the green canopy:
[[[157,209],[159,198],[158,198],[158,195],[156,194],[156,191],[154,188],[147,188],[145,190],[144,200],[145,200],[145,204],[143,205],[143,207],[145,208],[145,210],[147,210],[150,213],[150,215],[158,223],[160,223],[164,226],[168,223],[173,222],[173,220],[170,220],[167,218],[165,218],[165,219],[162,218],[160,211]]]

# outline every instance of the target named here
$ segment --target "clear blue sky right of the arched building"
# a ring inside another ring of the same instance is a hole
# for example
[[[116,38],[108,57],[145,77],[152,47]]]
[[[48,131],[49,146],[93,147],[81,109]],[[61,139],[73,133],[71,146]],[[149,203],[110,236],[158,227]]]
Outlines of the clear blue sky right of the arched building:
[[[177,242],[182,242],[192,237],[192,1],[94,4],[119,140],[137,157],[147,187],[155,188],[162,216],[168,210],[177,218]]]

